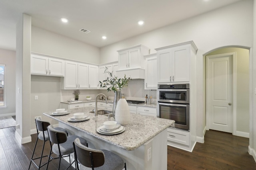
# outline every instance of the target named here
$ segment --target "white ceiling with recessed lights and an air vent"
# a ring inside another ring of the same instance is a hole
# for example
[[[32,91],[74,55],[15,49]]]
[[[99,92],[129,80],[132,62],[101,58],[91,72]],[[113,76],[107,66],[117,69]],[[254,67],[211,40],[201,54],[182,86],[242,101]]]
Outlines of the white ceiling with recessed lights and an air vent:
[[[0,48],[16,49],[16,23],[22,13],[32,16],[33,26],[104,47],[237,1],[0,0]],[[62,17],[69,22],[61,23]],[[91,32],[82,33],[81,28]]]

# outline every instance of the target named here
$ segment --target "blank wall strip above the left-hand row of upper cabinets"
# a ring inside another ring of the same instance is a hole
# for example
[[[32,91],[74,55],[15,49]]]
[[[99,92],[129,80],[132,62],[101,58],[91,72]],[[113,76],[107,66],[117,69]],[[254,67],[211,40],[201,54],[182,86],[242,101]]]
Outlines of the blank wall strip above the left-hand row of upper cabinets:
[[[31,51],[87,63],[100,63],[100,49],[63,35],[32,27]]]

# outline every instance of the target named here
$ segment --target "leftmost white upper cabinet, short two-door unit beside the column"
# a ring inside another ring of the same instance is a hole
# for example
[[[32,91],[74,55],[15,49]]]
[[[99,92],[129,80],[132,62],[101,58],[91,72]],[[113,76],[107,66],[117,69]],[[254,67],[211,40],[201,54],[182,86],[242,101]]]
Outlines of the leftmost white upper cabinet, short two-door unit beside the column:
[[[50,57],[31,55],[31,74],[64,76],[64,61]]]

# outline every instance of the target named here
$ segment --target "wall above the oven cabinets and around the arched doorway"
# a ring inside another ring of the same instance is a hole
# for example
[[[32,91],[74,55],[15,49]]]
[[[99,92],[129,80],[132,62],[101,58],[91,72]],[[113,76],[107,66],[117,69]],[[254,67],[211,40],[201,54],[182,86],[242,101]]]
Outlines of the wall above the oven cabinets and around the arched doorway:
[[[205,115],[203,55],[213,49],[225,46],[252,47],[252,6],[252,0],[240,1],[230,6],[102,47],[100,49],[100,63],[117,61],[117,50],[137,44],[146,45],[150,48],[150,53],[155,53],[154,49],[158,47],[194,41],[198,47],[196,55],[197,136],[203,137],[205,128],[205,119],[203,119]],[[166,17],[166,19],[168,18]]]

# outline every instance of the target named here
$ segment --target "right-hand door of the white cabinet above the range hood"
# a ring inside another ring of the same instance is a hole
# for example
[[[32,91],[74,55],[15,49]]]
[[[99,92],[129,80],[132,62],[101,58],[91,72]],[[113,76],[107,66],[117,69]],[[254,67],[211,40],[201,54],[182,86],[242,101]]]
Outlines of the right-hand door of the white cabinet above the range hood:
[[[140,68],[140,49],[130,49],[128,68]]]

